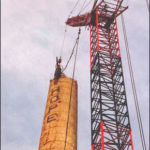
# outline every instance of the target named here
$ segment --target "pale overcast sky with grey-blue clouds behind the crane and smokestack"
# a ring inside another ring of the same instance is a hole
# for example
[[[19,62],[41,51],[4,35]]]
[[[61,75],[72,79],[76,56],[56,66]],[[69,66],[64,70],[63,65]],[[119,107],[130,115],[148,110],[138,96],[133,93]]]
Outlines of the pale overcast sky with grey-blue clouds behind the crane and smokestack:
[[[2,150],[37,150],[49,80],[60,55],[65,21],[76,0],[2,0]],[[79,13],[83,0],[75,9]],[[89,1],[87,0],[87,3]],[[128,0],[124,13],[136,89],[149,149],[149,17],[144,0]],[[92,8],[93,1],[87,7]],[[142,150],[120,17],[119,38],[135,150]],[[63,65],[78,28],[67,28]],[[78,81],[78,150],[91,149],[89,30],[83,27],[75,79]],[[73,62],[66,75],[71,77]]]

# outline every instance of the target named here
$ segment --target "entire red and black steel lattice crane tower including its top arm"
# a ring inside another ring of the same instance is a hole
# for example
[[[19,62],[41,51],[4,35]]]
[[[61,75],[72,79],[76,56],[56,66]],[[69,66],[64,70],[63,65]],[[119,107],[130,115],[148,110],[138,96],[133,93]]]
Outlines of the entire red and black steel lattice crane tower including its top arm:
[[[122,2],[102,0],[67,21],[90,26],[92,150],[133,150],[116,20],[127,9]]]

